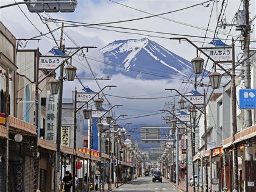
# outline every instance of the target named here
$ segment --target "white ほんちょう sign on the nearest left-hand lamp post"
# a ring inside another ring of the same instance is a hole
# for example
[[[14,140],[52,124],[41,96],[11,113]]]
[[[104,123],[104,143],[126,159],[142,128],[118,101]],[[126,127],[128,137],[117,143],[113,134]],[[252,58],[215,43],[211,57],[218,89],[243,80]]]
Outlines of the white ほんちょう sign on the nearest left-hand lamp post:
[[[65,57],[41,56],[39,58],[39,69],[55,69],[65,59]]]

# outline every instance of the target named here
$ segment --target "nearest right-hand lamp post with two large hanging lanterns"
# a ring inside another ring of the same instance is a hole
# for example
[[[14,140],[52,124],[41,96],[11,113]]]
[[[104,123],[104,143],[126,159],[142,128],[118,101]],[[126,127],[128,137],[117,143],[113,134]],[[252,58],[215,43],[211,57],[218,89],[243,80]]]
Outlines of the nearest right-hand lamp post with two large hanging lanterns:
[[[196,74],[200,74],[202,73],[202,66],[204,63],[204,60],[201,57],[198,57],[198,51],[200,51],[202,54],[204,54],[207,59],[211,60],[215,66],[219,66],[219,68],[221,68],[223,71],[225,71],[225,73],[227,73],[230,77],[231,77],[231,81],[232,81],[232,132],[233,132],[233,141],[235,141],[235,134],[237,132],[237,124],[236,124],[236,86],[235,86],[235,44],[234,44],[234,40],[232,38],[232,45],[231,46],[225,46],[223,48],[230,48],[232,49],[232,73],[230,73],[229,71],[227,71],[224,67],[222,67],[221,63],[230,63],[230,61],[221,61],[220,62],[216,62],[214,59],[212,59],[212,57],[210,57],[208,54],[206,54],[202,49],[207,49],[207,48],[199,48],[198,46],[196,46],[196,44],[194,44],[192,41],[188,40],[188,38],[170,38],[171,40],[185,40],[188,41],[190,44],[192,44],[194,46],[194,48],[196,48],[197,50],[197,57],[196,59],[191,60],[192,65],[193,65],[193,69],[194,69],[194,73]],[[214,48],[211,48],[214,49]],[[218,49],[221,49],[221,47],[218,47]],[[212,88],[219,88],[220,83],[221,83],[221,74],[216,72],[216,68],[215,71],[209,75],[210,78],[210,83],[212,85]],[[206,135],[205,135],[206,137]],[[206,144],[206,143],[205,143]],[[235,184],[235,190],[238,191],[239,187],[238,187],[238,149],[237,149],[237,144],[233,143],[233,168],[234,168],[234,172],[233,172],[233,183]],[[206,170],[206,169],[205,169]],[[224,170],[225,171],[225,170]],[[224,185],[226,185],[226,183],[224,183]],[[226,187],[226,186],[224,186]],[[208,191],[208,188],[207,190]]]

